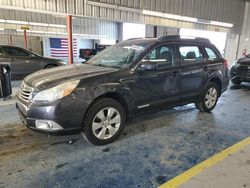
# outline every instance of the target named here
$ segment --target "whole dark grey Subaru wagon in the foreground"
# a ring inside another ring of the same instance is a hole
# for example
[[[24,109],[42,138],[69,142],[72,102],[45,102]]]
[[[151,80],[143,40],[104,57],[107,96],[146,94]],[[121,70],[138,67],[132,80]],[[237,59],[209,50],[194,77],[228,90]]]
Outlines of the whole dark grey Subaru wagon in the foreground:
[[[227,61],[207,39],[133,39],[85,64],[27,76],[17,109],[32,130],[81,130],[88,141],[103,145],[138,113],[188,103],[210,112],[228,83]]]

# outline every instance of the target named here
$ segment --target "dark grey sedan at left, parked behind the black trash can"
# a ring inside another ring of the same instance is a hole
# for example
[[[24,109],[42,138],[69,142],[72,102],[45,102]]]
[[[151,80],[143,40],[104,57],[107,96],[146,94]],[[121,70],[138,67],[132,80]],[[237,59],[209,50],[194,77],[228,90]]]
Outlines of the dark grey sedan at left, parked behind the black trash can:
[[[42,57],[17,46],[0,45],[0,63],[10,63],[12,79],[25,76],[46,68],[64,65],[60,59]]]

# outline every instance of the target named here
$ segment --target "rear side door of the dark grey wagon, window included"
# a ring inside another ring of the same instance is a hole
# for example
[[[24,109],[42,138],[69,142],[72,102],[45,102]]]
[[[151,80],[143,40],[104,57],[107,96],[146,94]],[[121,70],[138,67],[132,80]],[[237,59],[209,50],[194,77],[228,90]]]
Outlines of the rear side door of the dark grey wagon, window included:
[[[208,70],[204,52],[196,44],[179,44],[177,53],[180,65],[181,100],[193,100],[202,91]]]

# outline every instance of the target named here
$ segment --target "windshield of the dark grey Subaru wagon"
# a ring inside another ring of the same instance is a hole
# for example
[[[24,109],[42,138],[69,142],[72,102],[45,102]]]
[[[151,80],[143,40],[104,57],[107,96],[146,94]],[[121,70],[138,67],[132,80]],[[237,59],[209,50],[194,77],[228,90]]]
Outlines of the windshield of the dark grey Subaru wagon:
[[[124,42],[108,47],[86,63],[113,68],[125,68],[132,63],[146,48],[147,42]]]

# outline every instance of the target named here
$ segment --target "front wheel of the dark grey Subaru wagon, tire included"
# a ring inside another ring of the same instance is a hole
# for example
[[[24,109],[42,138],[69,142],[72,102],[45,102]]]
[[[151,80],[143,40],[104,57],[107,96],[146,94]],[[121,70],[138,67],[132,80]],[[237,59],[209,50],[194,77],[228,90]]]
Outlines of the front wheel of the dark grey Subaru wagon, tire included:
[[[123,106],[114,99],[102,98],[87,111],[82,133],[87,141],[94,145],[109,144],[121,134],[125,121],[126,113]]]

